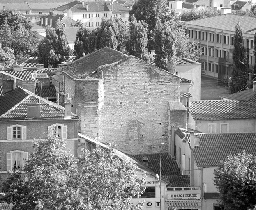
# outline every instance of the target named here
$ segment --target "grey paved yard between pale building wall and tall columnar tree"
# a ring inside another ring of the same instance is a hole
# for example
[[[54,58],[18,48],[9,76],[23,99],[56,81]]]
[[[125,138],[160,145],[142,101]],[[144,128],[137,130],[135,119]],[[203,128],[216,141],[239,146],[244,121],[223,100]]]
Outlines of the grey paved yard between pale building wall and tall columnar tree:
[[[226,94],[226,87],[218,85],[217,78],[201,75],[201,100],[221,100]]]

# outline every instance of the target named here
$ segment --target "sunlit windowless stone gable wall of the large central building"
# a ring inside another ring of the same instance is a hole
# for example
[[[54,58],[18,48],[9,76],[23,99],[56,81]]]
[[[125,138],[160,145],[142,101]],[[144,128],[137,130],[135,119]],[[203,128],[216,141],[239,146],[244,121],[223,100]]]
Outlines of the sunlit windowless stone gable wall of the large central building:
[[[180,99],[180,78],[136,57],[102,71],[99,141],[130,153],[157,153],[165,142],[168,151],[168,101]]]

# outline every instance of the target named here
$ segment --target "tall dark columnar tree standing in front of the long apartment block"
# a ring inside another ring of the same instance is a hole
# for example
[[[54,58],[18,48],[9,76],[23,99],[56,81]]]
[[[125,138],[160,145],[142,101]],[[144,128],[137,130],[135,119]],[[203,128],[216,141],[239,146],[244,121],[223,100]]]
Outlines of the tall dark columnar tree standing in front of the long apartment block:
[[[236,93],[244,88],[247,82],[247,68],[249,66],[247,52],[244,47],[243,32],[240,23],[235,26],[233,72],[230,92]]]

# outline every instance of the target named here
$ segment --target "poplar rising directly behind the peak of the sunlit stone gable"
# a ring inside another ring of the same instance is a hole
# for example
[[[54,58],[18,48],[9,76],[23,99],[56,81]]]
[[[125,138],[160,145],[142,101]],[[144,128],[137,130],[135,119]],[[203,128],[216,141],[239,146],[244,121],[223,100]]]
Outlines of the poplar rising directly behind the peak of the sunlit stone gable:
[[[126,50],[130,55],[134,55],[148,62],[150,55],[146,48],[148,43],[147,28],[147,23],[144,21],[137,22],[134,16],[131,17],[129,26],[130,37],[126,45]]]

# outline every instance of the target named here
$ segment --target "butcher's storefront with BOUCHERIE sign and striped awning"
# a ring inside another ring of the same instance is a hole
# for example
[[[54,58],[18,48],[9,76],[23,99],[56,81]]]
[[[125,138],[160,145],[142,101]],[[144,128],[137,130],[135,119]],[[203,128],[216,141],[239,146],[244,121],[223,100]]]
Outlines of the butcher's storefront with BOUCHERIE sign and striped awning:
[[[201,209],[201,192],[199,187],[166,188],[166,210]]]

